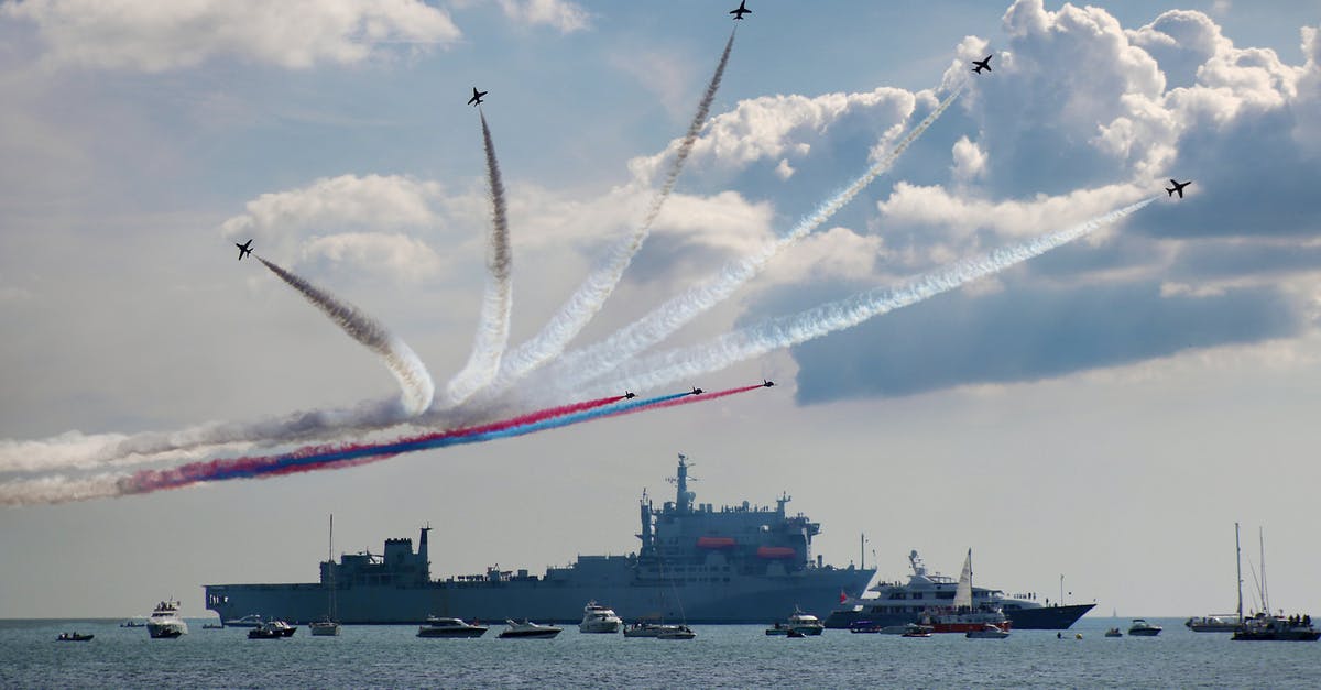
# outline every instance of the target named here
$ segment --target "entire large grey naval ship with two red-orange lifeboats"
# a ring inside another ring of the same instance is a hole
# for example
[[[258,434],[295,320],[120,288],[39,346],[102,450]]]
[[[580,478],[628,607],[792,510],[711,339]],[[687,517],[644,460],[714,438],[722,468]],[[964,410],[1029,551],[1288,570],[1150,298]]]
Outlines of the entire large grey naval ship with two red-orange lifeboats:
[[[875,568],[823,564],[811,551],[820,523],[785,509],[712,508],[688,490],[691,463],[679,456],[674,501],[657,510],[642,493],[641,546],[627,555],[580,555],[544,575],[489,568],[483,575],[431,578],[427,531],[386,539],[384,554],[343,554],[321,563],[321,580],[305,584],[207,584],[206,608],[221,620],[248,615],[308,623],[326,615],[350,624],[417,624],[427,616],[465,620],[528,619],[576,623],[589,601],[625,620],[766,623],[795,607],[826,613],[845,595],[860,595]]]

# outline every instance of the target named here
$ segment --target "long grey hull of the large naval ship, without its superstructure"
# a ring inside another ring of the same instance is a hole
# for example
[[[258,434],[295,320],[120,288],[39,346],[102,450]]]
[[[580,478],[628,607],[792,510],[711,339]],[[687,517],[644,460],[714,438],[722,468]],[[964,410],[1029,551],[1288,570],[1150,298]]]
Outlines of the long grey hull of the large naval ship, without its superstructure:
[[[621,578],[596,583],[444,580],[417,587],[343,587],[336,592],[336,617],[343,624],[420,624],[427,616],[577,623],[583,605],[596,600],[625,620],[766,623],[794,607],[807,612],[828,611],[841,591],[861,591],[873,572],[816,568],[786,576],[731,576],[729,582],[700,584]],[[207,608],[222,620],[260,612],[291,623],[309,623],[325,616],[326,594],[321,584],[206,586]]]

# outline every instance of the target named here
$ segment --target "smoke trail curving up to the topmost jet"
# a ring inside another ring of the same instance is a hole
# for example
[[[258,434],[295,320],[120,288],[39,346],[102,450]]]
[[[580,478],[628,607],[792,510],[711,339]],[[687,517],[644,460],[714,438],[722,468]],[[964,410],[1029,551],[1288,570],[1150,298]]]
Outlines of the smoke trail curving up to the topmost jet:
[[[630,237],[624,238],[622,242],[610,249],[610,254],[605,264],[592,272],[587,280],[579,286],[577,291],[573,292],[559,313],[556,313],[551,321],[546,324],[540,333],[510,352],[506,362],[501,366],[499,374],[490,386],[490,391],[493,394],[509,389],[509,386],[520,379],[528,371],[542,366],[552,357],[564,352],[564,348],[569,344],[569,341],[577,337],[583,328],[585,328],[597,312],[601,311],[601,307],[605,305],[605,300],[610,297],[610,293],[614,292],[616,286],[618,286],[620,280],[624,278],[624,271],[627,270],[629,264],[633,262],[633,256],[638,254],[638,250],[642,249],[642,243],[646,242],[647,235],[650,235],[651,225],[655,222],[657,215],[660,214],[660,208],[664,205],[666,200],[670,198],[675,181],[683,171],[683,164],[688,160],[688,155],[692,152],[692,145],[696,143],[697,135],[701,132],[701,126],[707,122],[707,115],[711,112],[711,103],[715,100],[716,91],[720,89],[720,79],[724,77],[725,66],[729,63],[729,52],[733,45],[734,33],[731,32],[729,40],[725,42],[725,50],[720,54],[720,62],[716,65],[716,73],[711,77],[711,82],[707,85],[707,91],[703,94],[701,102],[697,103],[697,112],[694,115],[692,122],[688,124],[688,132],[684,134],[683,140],[679,143],[679,148],[675,151],[664,184],[660,185],[660,190],[651,201],[651,206],[647,209],[647,214],[643,217],[642,225],[639,225]]]

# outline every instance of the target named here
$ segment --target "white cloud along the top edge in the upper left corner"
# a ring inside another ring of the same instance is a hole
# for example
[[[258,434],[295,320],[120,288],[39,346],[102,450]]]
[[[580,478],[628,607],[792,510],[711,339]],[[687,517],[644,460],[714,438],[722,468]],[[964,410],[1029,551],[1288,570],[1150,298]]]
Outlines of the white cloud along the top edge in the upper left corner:
[[[417,0],[28,0],[0,16],[37,25],[55,65],[159,73],[230,56],[287,69],[350,65],[383,44],[448,45],[461,36]]]

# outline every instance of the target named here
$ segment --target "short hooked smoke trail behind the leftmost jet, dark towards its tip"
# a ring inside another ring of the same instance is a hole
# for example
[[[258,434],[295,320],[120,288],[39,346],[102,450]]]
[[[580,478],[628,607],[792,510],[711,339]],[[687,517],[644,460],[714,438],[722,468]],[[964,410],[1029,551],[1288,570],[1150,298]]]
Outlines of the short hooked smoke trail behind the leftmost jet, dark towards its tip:
[[[379,354],[386,361],[386,367],[390,369],[390,373],[399,381],[399,387],[403,389],[399,402],[407,415],[421,414],[431,406],[436,383],[431,379],[425,365],[421,364],[421,360],[417,358],[412,348],[353,304],[337,299],[334,295],[262,256],[256,259],[288,283],[289,287],[301,292],[308,301],[329,316],[349,337],[366,345],[367,349]]]

